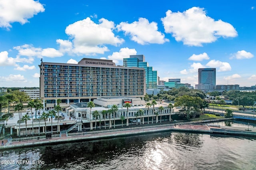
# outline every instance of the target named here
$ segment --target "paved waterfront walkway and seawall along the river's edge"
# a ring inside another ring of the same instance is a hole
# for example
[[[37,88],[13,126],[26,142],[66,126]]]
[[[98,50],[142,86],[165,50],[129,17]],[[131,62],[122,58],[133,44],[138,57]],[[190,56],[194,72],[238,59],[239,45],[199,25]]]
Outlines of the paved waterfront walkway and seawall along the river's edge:
[[[249,131],[248,131],[249,130]],[[68,136],[60,135],[59,137],[31,139],[24,141],[4,141],[4,146],[0,149],[20,148],[39,145],[52,145],[58,143],[69,143],[78,141],[90,141],[95,139],[105,139],[118,136],[137,135],[143,133],[155,133],[160,131],[185,131],[193,133],[222,133],[233,135],[250,135],[256,136],[256,129],[244,127],[227,127],[220,125],[195,125],[195,124],[158,124],[147,127],[131,127],[123,129],[104,129],[100,131],[89,131],[79,133],[69,133]]]

